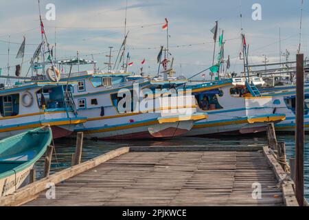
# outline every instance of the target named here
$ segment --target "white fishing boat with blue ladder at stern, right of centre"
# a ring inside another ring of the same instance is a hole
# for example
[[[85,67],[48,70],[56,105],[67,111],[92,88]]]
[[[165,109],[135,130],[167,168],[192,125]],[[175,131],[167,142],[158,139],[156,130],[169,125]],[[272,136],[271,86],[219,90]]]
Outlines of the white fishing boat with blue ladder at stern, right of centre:
[[[249,89],[247,88],[249,87]],[[179,94],[190,92],[197,104],[198,113],[207,113],[207,120],[194,122],[185,136],[247,134],[266,131],[269,122],[282,122],[286,115],[274,113],[271,96],[262,97],[253,84],[234,86],[233,80],[184,85],[177,88]]]

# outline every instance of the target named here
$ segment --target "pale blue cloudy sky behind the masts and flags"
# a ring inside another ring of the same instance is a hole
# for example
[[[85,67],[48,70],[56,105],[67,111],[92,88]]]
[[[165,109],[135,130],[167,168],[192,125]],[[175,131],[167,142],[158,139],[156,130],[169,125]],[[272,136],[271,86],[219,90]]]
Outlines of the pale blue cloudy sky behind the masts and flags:
[[[56,6],[56,19],[45,19],[48,3]],[[262,20],[253,21],[253,4],[262,7]],[[14,75],[19,46],[26,38],[23,73],[41,42],[37,0],[0,0],[0,68],[8,74],[8,41],[10,39],[10,74]],[[301,52],[308,56],[309,0],[304,0],[301,25]],[[47,39],[57,44],[57,58],[73,58],[77,51],[81,58],[98,61],[106,69],[113,47],[113,59],[124,40],[126,0],[41,0],[41,14]],[[240,14],[242,18],[240,19]],[[162,30],[165,18],[169,21],[170,53],[174,57],[176,76],[190,77],[211,66],[214,50],[215,21],[224,31],[225,56],[231,56],[230,72],[240,72],[242,61],[240,33],[249,44],[249,62],[262,64],[264,55],[268,62],[279,61],[282,52],[290,52],[295,61],[299,45],[301,0],[128,0],[127,50],[134,65],[130,72],[139,72],[141,61],[146,59],[144,72],[157,74],[157,55],[160,45],[166,45],[166,31]],[[279,41],[279,29],[281,41]],[[56,37],[56,38],[55,38]],[[218,53],[218,45],[216,45]],[[91,55],[92,54],[92,55]],[[284,60],[282,56],[282,60]],[[84,67],[91,69],[91,66]],[[67,69],[66,69],[67,70]],[[208,77],[208,74],[207,74]],[[196,79],[201,79],[201,75]]]

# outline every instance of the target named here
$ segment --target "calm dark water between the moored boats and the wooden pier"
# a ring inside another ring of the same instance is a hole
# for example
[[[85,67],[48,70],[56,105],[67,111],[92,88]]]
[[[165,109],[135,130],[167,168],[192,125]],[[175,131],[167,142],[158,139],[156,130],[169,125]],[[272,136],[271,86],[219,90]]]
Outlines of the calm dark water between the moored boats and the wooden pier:
[[[289,157],[295,154],[295,137],[293,135],[277,135],[278,141],[286,142],[286,153]],[[71,157],[75,152],[76,140],[62,139],[55,142],[56,156],[53,155],[51,173],[58,172],[71,166]],[[98,157],[108,151],[123,146],[209,146],[209,145],[265,145],[267,140],[265,135],[256,135],[251,137],[220,137],[202,138],[202,137],[179,137],[164,141],[134,141],[134,142],[102,142],[93,140],[84,140],[82,161],[87,161]],[[305,146],[305,196],[309,200],[309,135],[306,135]],[[41,178],[44,169],[44,158],[36,164],[36,175]]]

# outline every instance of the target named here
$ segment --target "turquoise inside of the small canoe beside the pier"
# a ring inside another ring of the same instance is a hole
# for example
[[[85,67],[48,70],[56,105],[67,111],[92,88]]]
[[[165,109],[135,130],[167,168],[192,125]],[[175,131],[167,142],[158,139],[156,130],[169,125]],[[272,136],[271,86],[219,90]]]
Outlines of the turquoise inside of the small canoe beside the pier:
[[[32,166],[52,142],[52,129],[41,127],[0,140],[0,179]]]

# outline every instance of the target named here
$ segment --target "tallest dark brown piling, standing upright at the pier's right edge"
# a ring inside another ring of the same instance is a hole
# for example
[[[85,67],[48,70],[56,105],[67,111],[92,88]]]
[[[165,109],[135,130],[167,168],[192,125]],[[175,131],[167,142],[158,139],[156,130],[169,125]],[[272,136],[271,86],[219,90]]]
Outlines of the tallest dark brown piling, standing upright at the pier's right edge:
[[[296,55],[295,194],[304,206],[304,54]]]

